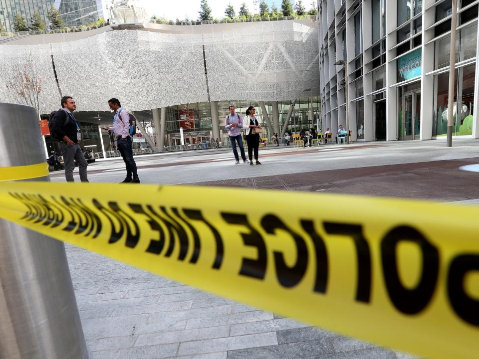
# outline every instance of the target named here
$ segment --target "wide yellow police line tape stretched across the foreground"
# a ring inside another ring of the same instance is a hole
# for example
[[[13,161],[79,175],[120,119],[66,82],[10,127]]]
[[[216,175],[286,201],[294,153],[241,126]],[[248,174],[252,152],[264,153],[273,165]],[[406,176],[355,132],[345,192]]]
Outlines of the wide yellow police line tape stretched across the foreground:
[[[240,302],[479,357],[479,208],[213,187],[0,183],[0,216]]]

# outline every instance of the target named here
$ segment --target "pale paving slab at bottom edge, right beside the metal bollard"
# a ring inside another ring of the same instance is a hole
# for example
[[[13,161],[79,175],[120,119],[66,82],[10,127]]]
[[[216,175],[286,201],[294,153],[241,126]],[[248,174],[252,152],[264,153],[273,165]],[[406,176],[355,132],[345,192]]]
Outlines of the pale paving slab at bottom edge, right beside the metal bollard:
[[[159,346],[93,352],[91,359],[159,359],[174,357],[177,351],[178,344],[165,344]]]

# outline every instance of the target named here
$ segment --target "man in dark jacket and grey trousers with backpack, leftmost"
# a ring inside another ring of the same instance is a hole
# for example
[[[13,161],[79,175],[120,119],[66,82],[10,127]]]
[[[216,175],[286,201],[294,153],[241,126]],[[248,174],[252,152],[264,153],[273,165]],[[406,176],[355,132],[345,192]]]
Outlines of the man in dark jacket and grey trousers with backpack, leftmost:
[[[60,150],[65,166],[65,178],[67,182],[75,181],[73,179],[73,169],[75,168],[74,161],[76,161],[80,172],[80,180],[88,182],[86,175],[88,164],[80,147],[80,127],[73,117],[73,111],[76,110],[75,101],[71,96],[63,96],[61,98],[61,107],[53,116],[52,129],[56,138],[60,141]],[[68,121],[65,125],[66,119]]]

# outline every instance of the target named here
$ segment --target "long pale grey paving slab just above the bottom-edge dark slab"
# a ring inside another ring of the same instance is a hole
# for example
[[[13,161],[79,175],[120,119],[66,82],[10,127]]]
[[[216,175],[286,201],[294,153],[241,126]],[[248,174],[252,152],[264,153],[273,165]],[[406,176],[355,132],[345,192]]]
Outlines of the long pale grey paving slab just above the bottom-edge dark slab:
[[[243,348],[274,346],[277,343],[278,341],[276,339],[276,333],[262,333],[240,337],[208,339],[204,341],[181,343],[178,350],[178,355],[185,356],[192,354],[214,353],[218,351],[234,351]],[[229,355],[230,354],[228,354],[228,356]]]

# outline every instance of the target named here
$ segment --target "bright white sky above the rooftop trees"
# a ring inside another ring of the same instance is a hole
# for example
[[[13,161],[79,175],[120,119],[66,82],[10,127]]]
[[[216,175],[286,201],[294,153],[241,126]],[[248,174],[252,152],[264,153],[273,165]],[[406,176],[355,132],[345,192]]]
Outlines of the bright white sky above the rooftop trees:
[[[141,6],[146,10],[149,16],[166,17],[169,20],[175,20],[179,18],[184,19],[186,16],[190,20],[198,19],[198,11],[200,11],[201,0],[139,0]],[[208,3],[212,9],[213,18],[222,18],[225,16],[225,9],[228,3],[231,2],[235,8],[236,13],[240,11],[241,3],[245,2],[250,12],[253,12],[253,0],[208,0]],[[274,2],[279,8],[281,6],[281,0],[268,0],[268,3]],[[293,2],[293,1],[291,1]],[[303,0],[306,8],[309,10],[309,3],[311,1]],[[259,1],[258,1],[259,12]]]

